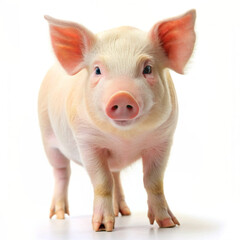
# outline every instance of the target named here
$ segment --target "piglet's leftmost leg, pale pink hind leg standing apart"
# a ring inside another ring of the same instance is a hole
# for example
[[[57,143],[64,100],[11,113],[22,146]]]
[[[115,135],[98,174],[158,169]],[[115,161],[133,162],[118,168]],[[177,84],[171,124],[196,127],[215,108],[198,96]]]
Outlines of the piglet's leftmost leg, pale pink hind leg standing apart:
[[[69,215],[68,184],[71,174],[70,161],[57,149],[46,149],[55,178],[54,194],[49,217],[56,215],[57,219],[64,219]]]

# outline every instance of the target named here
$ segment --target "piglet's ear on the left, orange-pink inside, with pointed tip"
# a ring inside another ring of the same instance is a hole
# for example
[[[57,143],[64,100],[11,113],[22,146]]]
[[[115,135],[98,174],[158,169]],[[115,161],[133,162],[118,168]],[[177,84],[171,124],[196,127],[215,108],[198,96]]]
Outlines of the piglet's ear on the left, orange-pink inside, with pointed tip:
[[[68,74],[74,75],[84,65],[85,54],[95,43],[95,36],[85,27],[45,16],[49,23],[55,55]]]

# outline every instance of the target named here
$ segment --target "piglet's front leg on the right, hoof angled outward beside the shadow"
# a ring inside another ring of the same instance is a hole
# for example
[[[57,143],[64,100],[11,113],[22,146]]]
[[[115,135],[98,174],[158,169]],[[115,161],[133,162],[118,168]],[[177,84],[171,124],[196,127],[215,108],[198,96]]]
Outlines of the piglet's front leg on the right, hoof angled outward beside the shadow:
[[[170,152],[169,143],[144,151],[143,173],[144,186],[148,194],[148,218],[150,223],[154,221],[159,227],[174,227],[179,225],[178,220],[168,207],[163,191],[163,177]]]

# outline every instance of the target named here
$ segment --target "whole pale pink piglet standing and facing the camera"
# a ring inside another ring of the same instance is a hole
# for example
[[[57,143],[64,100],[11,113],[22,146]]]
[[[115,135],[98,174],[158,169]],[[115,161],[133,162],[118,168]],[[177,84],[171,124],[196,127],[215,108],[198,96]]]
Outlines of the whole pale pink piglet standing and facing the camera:
[[[142,158],[150,223],[179,224],[163,191],[178,115],[167,68],[183,73],[195,42],[195,11],[149,33],[121,27],[94,35],[76,23],[46,19],[60,63],[39,93],[42,139],[55,176],[50,217],[69,214],[71,159],[93,184],[93,229],[112,231],[119,212],[130,214],[120,171]],[[146,66],[152,70],[146,73]]]

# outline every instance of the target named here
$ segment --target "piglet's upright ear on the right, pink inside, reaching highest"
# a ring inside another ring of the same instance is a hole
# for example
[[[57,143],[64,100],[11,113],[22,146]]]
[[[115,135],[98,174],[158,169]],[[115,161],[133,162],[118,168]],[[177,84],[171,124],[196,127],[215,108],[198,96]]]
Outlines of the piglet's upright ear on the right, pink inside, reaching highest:
[[[151,40],[164,51],[165,67],[183,74],[184,66],[192,55],[195,32],[196,11],[159,22],[150,31]]]

